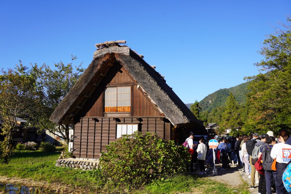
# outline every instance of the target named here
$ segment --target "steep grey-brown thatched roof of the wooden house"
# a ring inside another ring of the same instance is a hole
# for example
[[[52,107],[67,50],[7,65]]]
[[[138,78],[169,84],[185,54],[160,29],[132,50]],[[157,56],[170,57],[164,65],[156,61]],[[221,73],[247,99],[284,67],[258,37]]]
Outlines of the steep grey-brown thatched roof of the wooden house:
[[[80,106],[86,102],[110,71],[111,66],[119,63],[156,104],[161,116],[168,118],[173,125],[191,122],[197,124],[197,118],[166,84],[164,76],[155,71],[155,67],[148,65],[143,60],[143,56],[127,46],[119,45],[120,43],[125,41],[110,41],[96,45],[98,49],[94,52],[92,63],[56,107],[50,120],[59,124],[70,123],[72,117],[77,115]]]

